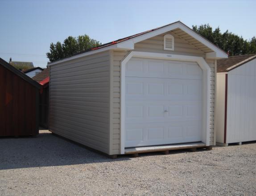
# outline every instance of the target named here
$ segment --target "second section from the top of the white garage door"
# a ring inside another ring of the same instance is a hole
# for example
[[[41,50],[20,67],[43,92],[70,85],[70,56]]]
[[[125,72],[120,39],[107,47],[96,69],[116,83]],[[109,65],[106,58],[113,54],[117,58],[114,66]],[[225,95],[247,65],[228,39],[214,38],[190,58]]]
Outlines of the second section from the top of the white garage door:
[[[126,100],[202,100],[202,80],[125,78]]]

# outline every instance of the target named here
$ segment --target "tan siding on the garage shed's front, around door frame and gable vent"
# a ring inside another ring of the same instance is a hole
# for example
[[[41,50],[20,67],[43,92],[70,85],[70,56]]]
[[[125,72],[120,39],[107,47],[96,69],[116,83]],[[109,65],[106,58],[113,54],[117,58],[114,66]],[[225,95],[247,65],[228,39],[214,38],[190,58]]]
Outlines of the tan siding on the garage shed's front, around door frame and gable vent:
[[[180,55],[190,55],[190,56],[199,56],[205,57],[205,53],[201,50],[198,50],[193,45],[189,44],[187,41],[179,38],[177,35],[174,36],[174,51],[164,50],[163,45],[163,36],[162,35],[152,37],[145,41],[136,43],[134,46],[134,51],[143,51],[143,52],[153,52],[153,53],[172,53]],[[110,135],[110,140],[113,141],[110,146],[110,154],[119,154],[120,153],[120,65],[121,61],[130,51],[114,51],[112,66],[113,74],[113,92],[111,94],[112,98],[112,116],[110,123],[112,124],[112,134]],[[206,61],[211,67],[211,111],[210,111],[210,145],[214,143],[214,104],[215,104],[215,64],[214,60]]]

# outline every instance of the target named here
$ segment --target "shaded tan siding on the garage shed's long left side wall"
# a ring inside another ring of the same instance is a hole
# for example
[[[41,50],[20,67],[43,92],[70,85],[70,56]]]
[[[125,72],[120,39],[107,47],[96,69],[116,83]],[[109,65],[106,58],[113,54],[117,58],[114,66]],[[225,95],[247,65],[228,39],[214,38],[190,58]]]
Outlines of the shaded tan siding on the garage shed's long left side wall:
[[[109,52],[50,67],[50,131],[109,154]]]

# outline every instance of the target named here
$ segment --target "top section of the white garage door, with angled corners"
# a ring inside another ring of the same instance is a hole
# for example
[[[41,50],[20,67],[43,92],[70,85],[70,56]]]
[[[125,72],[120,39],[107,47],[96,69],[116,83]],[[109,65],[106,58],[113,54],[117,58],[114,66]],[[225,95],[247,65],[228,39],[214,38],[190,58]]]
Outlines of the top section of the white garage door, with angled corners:
[[[201,79],[202,69],[195,62],[132,58],[126,65],[125,76]]]

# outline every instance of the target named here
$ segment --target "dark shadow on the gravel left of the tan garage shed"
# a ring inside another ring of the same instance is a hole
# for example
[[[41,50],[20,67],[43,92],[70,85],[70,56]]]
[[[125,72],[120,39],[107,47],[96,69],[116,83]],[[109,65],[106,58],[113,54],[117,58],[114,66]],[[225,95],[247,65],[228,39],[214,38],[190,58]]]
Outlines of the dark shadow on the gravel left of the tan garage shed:
[[[128,160],[91,151],[50,132],[36,138],[0,138],[0,170],[26,167],[47,167]]]

